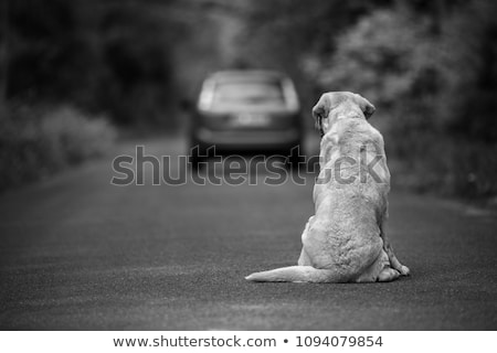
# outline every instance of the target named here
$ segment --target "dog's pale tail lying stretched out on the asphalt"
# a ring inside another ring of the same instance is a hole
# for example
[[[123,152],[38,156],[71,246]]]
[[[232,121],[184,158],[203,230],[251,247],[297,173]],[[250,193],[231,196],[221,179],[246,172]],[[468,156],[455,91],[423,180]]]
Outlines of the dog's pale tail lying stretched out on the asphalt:
[[[313,266],[288,266],[269,271],[255,272],[247,277],[246,280],[256,282],[347,282],[349,276],[337,274],[331,269],[319,269]]]

